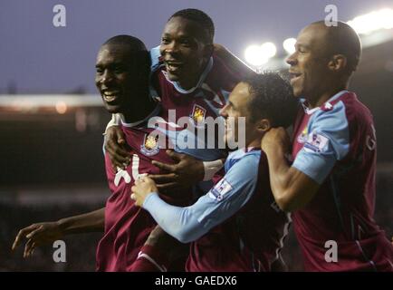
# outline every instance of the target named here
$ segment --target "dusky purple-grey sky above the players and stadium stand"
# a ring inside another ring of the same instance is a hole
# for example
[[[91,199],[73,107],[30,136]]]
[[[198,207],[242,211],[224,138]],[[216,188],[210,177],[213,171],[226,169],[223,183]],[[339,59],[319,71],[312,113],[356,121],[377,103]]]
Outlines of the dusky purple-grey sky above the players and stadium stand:
[[[53,5],[67,9],[67,26],[53,26]],[[148,47],[158,45],[168,17],[179,9],[204,10],[216,24],[216,43],[244,58],[253,43],[287,37],[325,16],[337,5],[339,19],[366,14],[393,0],[1,0],[0,92],[95,92],[94,62],[100,44],[116,34],[132,34]]]

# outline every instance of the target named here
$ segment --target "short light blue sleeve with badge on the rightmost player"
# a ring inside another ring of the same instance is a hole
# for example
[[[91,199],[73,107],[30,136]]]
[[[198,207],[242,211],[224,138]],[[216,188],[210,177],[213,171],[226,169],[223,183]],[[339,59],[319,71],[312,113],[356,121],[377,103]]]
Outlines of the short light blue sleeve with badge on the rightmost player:
[[[331,111],[317,111],[308,127],[309,135],[292,167],[322,184],[337,160],[350,150],[350,131],[343,102]]]

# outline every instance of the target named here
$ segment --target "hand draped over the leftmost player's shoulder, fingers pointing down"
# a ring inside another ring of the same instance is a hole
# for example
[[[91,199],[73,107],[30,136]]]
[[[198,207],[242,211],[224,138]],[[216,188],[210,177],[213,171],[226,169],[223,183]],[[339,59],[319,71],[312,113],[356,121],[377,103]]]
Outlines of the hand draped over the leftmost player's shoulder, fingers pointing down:
[[[123,131],[118,126],[108,128],[105,137],[105,150],[110,156],[110,161],[114,171],[117,168],[126,169],[131,160],[131,154],[126,143]]]

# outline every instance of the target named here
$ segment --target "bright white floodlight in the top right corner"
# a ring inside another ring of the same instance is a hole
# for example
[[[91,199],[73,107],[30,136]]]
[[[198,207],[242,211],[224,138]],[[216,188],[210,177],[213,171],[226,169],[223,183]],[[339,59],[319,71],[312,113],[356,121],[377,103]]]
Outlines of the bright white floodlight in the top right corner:
[[[360,15],[348,22],[358,34],[370,34],[381,29],[393,28],[393,9],[385,8]]]

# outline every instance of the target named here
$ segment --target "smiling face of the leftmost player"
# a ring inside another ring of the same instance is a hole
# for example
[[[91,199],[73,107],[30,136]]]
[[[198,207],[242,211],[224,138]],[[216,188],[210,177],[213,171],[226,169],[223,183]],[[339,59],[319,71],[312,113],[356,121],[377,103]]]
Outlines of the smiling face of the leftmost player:
[[[105,44],[97,55],[95,83],[111,113],[132,110],[131,101],[140,92],[132,55],[123,44]]]

